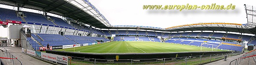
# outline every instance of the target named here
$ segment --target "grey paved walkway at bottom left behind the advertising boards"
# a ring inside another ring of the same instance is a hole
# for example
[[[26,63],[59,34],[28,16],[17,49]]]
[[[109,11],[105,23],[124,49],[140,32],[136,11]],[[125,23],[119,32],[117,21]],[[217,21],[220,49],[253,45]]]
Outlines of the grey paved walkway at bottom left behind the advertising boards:
[[[22,65],[51,65],[47,62],[40,61],[38,59],[35,59],[31,56],[28,56],[28,55],[22,53],[21,47],[5,47],[5,48],[7,50],[9,50],[13,56],[17,57],[18,60],[20,60],[22,62]],[[20,62],[18,62],[18,60],[14,60],[15,65],[21,65]],[[6,61],[6,62],[10,62],[10,60]],[[11,65],[13,65],[13,64],[11,64]]]

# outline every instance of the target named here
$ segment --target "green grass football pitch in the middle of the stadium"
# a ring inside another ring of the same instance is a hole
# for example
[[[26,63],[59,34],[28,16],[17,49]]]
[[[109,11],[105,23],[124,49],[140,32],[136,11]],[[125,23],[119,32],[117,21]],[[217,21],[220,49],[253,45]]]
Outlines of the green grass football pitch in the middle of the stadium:
[[[111,41],[103,44],[57,49],[58,51],[80,53],[173,53],[173,52],[198,52],[201,47],[170,44],[152,41]],[[211,48],[202,47],[202,51],[211,51]],[[213,51],[226,51],[217,50]]]

